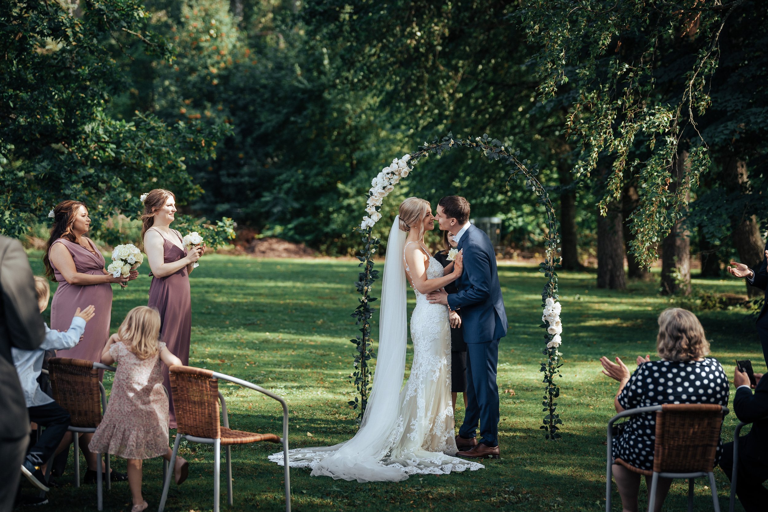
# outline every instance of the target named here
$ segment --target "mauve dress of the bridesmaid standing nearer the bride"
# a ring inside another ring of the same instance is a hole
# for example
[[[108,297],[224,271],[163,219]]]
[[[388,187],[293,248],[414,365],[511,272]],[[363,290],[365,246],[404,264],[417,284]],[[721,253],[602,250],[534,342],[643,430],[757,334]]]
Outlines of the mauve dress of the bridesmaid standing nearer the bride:
[[[160,233],[160,230],[156,231]],[[171,231],[179,237],[179,243],[181,243],[179,232],[177,230]],[[163,236],[164,263],[174,263],[184,256],[187,256],[184,249],[170,243]],[[170,276],[153,277],[149,287],[147,306],[156,308],[160,312],[162,322],[160,339],[171,354],[180,358],[185,366],[188,365],[190,362],[190,338],[192,336],[192,297],[187,267],[182,267]],[[165,365],[163,365],[163,385],[168,390],[170,428],[176,428],[174,398],[170,393],[170,378],[168,378],[168,367]]]

